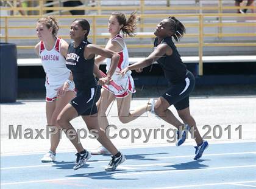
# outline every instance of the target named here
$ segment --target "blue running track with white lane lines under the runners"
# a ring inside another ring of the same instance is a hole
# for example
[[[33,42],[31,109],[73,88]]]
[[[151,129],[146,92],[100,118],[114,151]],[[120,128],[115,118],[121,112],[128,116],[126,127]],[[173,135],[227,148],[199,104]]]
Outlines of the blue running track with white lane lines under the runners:
[[[127,160],[116,171],[104,171],[109,156],[74,171],[75,151],[54,163],[41,163],[43,154],[2,156],[1,188],[256,188],[256,142],[209,143],[199,160],[190,145],[121,151]]]

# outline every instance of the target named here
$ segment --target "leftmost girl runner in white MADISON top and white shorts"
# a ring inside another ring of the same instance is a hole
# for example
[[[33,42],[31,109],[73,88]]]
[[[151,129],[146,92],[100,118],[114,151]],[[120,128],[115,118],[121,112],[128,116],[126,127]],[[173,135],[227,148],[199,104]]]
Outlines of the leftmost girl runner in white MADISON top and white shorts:
[[[48,129],[51,129],[51,147],[41,162],[53,162],[57,146],[60,142],[60,128],[57,117],[65,105],[76,96],[74,82],[70,71],[66,68],[68,43],[57,38],[59,26],[52,16],[46,16],[37,21],[37,36],[40,40],[35,45],[35,52],[41,58],[46,74],[46,119]],[[65,82],[66,81],[66,82]],[[58,97],[59,89],[63,89],[62,97]]]

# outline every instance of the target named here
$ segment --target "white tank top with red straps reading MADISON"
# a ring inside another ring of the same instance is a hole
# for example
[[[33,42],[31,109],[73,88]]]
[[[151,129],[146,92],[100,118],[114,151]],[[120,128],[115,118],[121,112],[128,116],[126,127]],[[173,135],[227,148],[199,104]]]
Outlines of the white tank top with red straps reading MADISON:
[[[61,39],[57,38],[51,50],[44,47],[43,41],[40,42],[39,55],[47,85],[61,85],[69,78],[70,70],[66,68],[66,59],[60,53],[60,41]]]

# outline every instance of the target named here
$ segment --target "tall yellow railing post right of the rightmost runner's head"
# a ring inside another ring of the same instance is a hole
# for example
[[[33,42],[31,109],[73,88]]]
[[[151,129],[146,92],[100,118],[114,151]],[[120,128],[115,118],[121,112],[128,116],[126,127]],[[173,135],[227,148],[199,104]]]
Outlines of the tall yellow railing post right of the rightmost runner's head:
[[[204,16],[202,14],[199,15],[199,75],[203,75],[203,48],[204,48]]]

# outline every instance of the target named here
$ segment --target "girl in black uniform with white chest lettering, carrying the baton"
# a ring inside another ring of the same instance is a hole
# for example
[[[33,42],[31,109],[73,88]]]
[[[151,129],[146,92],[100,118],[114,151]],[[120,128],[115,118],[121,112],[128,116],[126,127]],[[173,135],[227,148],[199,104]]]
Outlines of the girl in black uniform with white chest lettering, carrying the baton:
[[[72,71],[73,80],[77,89],[77,96],[63,108],[57,119],[60,127],[66,132],[66,136],[77,149],[77,159],[74,170],[85,165],[85,162],[90,159],[91,154],[85,150],[79,142],[77,133],[71,125],[70,121],[82,115],[82,119],[89,130],[95,129],[98,134],[98,141],[112,153],[112,160],[105,170],[115,170],[116,167],[123,163],[126,158],[121,154],[107,138],[104,130],[99,128],[96,102],[101,95],[99,88],[94,78],[95,74],[99,78],[99,84],[107,84],[110,81],[119,61],[118,53],[111,50],[102,49],[87,41],[87,36],[90,31],[90,24],[86,19],[75,19],[71,24],[69,35],[74,41],[69,44],[68,55],[66,58],[66,66]],[[101,78],[99,69],[94,66],[95,54],[102,55],[112,59],[110,70],[105,78]],[[66,81],[69,83],[70,80]],[[65,93],[60,89],[59,95]],[[69,130],[73,132],[68,132]]]

